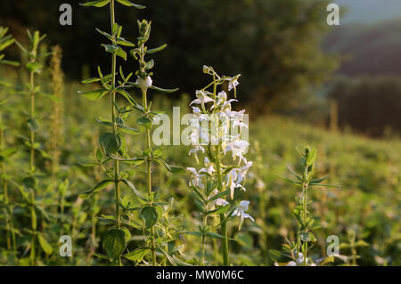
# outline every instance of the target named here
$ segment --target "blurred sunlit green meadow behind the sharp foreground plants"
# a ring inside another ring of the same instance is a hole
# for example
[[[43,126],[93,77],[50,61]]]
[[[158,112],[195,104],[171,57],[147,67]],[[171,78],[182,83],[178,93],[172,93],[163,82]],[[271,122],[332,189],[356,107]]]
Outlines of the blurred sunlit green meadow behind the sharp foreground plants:
[[[12,72],[9,74],[14,82],[20,85],[20,77]],[[45,80],[45,75],[43,80]],[[12,81],[10,79],[9,81]],[[44,84],[44,88],[46,85]],[[94,122],[96,114],[109,110],[107,99],[99,101],[90,107],[85,98],[76,93],[78,84],[65,85],[64,118],[62,133],[64,143],[61,146],[60,170],[56,174],[57,184],[52,185],[41,179],[41,191],[38,193],[41,205],[49,211],[53,221],[46,221],[39,228],[47,241],[53,247],[50,256],[37,256],[38,264],[44,265],[107,265],[107,259],[102,258],[102,236],[107,226],[96,216],[114,214],[114,193],[110,189],[95,194],[95,199],[78,198],[78,194],[93,187],[100,180],[99,172],[94,168],[79,166],[79,162],[92,162],[94,149],[98,147],[97,136],[101,127]],[[135,93],[136,96],[139,93]],[[241,98],[241,93],[239,93]],[[17,93],[1,93],[9,97],[7,109],[2,109],[4,123],[9,126],[6,131],[6,142],[20,150],[12,157],[8,173],[12,173],[9,199],[14,205],[14,227],[18,229],[17,255],[12,256],[12,250],[6,249],[5,238],[0,238],[0,264],[28,264],[24,252],[29,243],[29,233],[24,228],[29,227],[29,207],[21,200],[18,183],[23,174],[20,169],[27,165],[27,153],[24,152],[19,134],[24,131],[24,110],[28,104],[26,96]],[[180,101],[169,101],[168,95],[157,94],[150,99],[153,107],[160,110],[172,110],[173,106],[181,106],[182,114],[188,110],[189,96]],[[37,110],[41,117],[46,118],[51,113],[52,103],[38,101]],[[188,110],[189,112],[189,110]],[[338,235],[340,243],[349,242],[349,231],[356,231],[356,239],[364,239],[369,245],[357,247],[357,264],[401,264],[401,234],[400,234],[400,204],[401,204],[401,142],[398,139],[371,140],[354,134],[334,134],[315,126],[308,126],[285,118],[257,118],[250,113],[250,160],[254,166],[246,183],[247,191],[238,191],[238,199],[250,200],[249,214],[254,216],[256,223],[244,223],[238,232],[238,220],[230,223],[228,234],[236,241],[230,241],[230,259],[233,264],[241,265],[271,265],[273,264],[268,251],[281,249],[284,239],[294,239],[297,223],[292,215],[295,207],[294,196],[299,190],[291,184],[282,181],[278,175],[290,177],[287,165],[295,166],[300,172],[299,153],[296,147],[302,149],[310,144],[317,149],[315,176],[329,175],[328,183],[340,184],[339,189],[314,189],[310,200],[315,200],[308,209],[323,223],[324,228],[315,231],[317,242],[308,253],[315,258],[325,256],[325,239],[329,235]],[[135,118],[130,118],[135,122]],[[37,141],[45,144],[49,139],[47,132],[51,122],[43,119],[37,134]],[[127,124],[129,122],[127,121]],[[141,139],[132,136],[127,141],[129,151],[143,149]],[[169,164],[193,166],[193,159],[187,155],[188,148],[181,146],[164,147],[165,160]],[[46,176],[51,169],[45,158],[37,160],[37,166]],[[197,231],[201,220],[198,210],[193,205],[193,195],[188,187],[189,174],[167,174],[163,167],[155,168],[154,190],[160,191],[166,200],[175,199],[173,215],[184,215],[183,221],[175,221],[176,227],[183,226],[183,231]],[[146,191],[145,174],[138,172],[133,177],[139,191]],[[69,183],[65,183],[68,181]],[[64,185],[62,185],[65,183]],[[65,192],[64,212],[55,210],[60,206],[60,192]],[[57,192],[57,193],[55,193]],[[3,193],[3,192],[2,192]],[[122,192],[127,195],[127,190]],[[3,197],[0,195],[0,199]],[[308,198],[309,199],[309,198]],[[2,209],[2,214],[3,214]],[[39,220],[43,218],[39,215]],[[57,220],[57,221],[56,221]],[[97,220],[97,221],[96,221]],[[95,223],[94,223],[95,221]],[[4,216],[0,219],[0,230],[4,230]],[[93,235],[95,229],[95,235]],[[62,234],[69,234],[73,239],[73,257],[63,258],[58,255],[58,243]],[[132,231],[133,241],[128,250],[142,242],[141,231]],[[2,235],[3,232],[2,232]],[[93,238],[94,237],[94,238]],[[216,246],[214,246],[216,245]],[[196,252],[201,244],[196,236],[185,236],[177,239],[176,246],[182,246],[181,251],[185,262],[199,259]],[[345,246],[342,246],[345,247]],[[208,259],[216,259],[221,263],[219,243],[210,242],[206,247]],[[348,248],[340,249],[341,255],[351,255]],[[150,260],[150,259],[149,259]],[[334,264],[343,264],[336,260]]]

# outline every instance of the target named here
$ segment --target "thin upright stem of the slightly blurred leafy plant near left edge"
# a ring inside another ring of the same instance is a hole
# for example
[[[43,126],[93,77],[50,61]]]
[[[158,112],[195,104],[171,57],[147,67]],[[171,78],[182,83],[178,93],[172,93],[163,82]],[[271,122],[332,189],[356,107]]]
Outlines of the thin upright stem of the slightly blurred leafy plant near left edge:
[[[35,118],[35,74],[34,72],[30,72],[30,118]],[[35,171],[35,132],[30,131],[30,172],[33,173]],[[36,265],[36,237],[37,237],[37,214],[35,212],[35,189],[31,189],[30,191],[30,218],[31,218],[31,227],[32,227],[32,242],[30,247],[30,262],[31,265]]]

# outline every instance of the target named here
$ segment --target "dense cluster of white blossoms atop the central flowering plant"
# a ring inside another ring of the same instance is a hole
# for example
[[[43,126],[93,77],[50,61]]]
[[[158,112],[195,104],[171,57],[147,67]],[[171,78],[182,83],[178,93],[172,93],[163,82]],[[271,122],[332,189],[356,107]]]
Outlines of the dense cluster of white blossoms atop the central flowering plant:
[[[222,187],[230,190],[231,199],[235,189],[245,191],[243,183],[252,162],[247,161],[244,157],[250,143],[241,140],[243,128],[248,128],[244,122],[245,110],[235,111],[232,108],[233,101],[236,99],[228,99],[228,94],[223,90],[217,93],[217,85],[226,85],[228,92],[235,90],[239,85],[238,78],[235,77],[219,77],[214,69],[208,66],[203,67],[206,74],[214,77],[213,84],[210,84],[202,90],[196,91],[196,99],[191,102],[193,118],[190,119],[188,125],[191,126],[189,140],[192,142],[192,149],[189,155],[194,155],[199,161],[198,152],[205,153],[205,148],[210,145],[216,146],[219,153],[223,156],[231,157],[234,166],[227,166],[230,170],[225,172]],[[207,90],[208,87],[214,86],[214,92]],[[209,151],[209,154],[210,151]],[[217,174],[214,164],[210,162],[213,157],[206,155],[204,159],[204,167],[199,170],[190,167],[188,170],[192,173],[192,184],[204,189],[201,182],[206,175],[212,176]],[[202,174],[206,173],[206,174]],[[248,201],[242,201],[248,202]]]

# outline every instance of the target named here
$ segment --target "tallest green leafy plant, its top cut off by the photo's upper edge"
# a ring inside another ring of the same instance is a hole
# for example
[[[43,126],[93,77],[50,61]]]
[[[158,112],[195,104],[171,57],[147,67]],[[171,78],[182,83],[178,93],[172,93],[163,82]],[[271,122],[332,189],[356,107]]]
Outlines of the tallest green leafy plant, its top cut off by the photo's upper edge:
[[[94,6],[97,8],[101,8],[108,4],[110,6],[110,34],[96,28],[102,36],[110,40],[110,44],[102,45],[106,53],[110,53],[110,73],[103,75],[101,68],[98,67],[99,77],[86,79],[83,83],[89,84],[97,82],[102,85],[102,88],[79,93],[82,93],[87,99],[92,101],[97,101],[106,94],[110,95],[110,119],[96,118],[96,121],[102,126],[110,127],[111,132],[100,135],[99,143],[101,148],[96,150],[97,164],[102,166],[107,178],[103,179],[100,183],[97,183],[92,190],[82,193],[80,198],[88,199],[94,192],[102,191],[110,184],[114,184],[116,204],[115,216],[114,218],[110,218],[110,222],[113,223],[113,226],[103,237],[102,246],[112,263],[121,265],[121,255],[126,250],[127,243],[131,239],[131,233],[127,227],[122,226],[123,218],[126,218],[127,216],[122,216],[120,212],[121,197],[119,185],[120,183],[126,183],[129,188],[136,191],[134,185],[127,181],[127,177],[133,174],[133,168],[121,171],[119,165],[121,159],[130,158],[127,153],[127,142],[123,134],[138,134],[139,132],[135,128],[125,125],[124,119],[127,118],[128,112],[124,107],[120,108],[116,101],[117,93],[122,93],[129,101],[132,100],[129,94],[123,89],[127,85],[127,81],[132,74],[125,77],[121,68],[119,68],[120,72],[118,74],[117,57],[127,61],[127,53],[124,51],[122,46],[135,46],[125,38],[121,37],[123,27],[116,22],[114,9],[116,2],[125,6],[134,6],[137,9],[144,8],[142,5],[132,4],[127,0],[97,0],[82,4],[83,6]],[[118,80],[119,75],[120,80]]]

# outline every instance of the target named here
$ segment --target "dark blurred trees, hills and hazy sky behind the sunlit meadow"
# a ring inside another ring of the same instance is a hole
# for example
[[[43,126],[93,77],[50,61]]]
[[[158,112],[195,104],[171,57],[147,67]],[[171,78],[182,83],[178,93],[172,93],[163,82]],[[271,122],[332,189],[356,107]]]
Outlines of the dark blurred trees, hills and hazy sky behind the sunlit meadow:
[[[43,30],[48,45],[61,45],[67,77],[78,80],[96,64],[108,66],[99,48],[102,37],[92,31],[107,30],[109,11],[67,1],[73,25],[62,27],[59,7],[64,2],[1,1],[0,24],[22,42],[27,28]],[[155,74],[163,74],[155,78],[160,85],[193,93],[203,84],[200,67],[207,64],[222,74],[241,73],[241,101],[256,113],[281,113],[328,126],[330,111],[337,107],[334,124],[342,129],[397,134],[401,4],[335,3],[341,5],[338,27],[326,24],[328,2],[321,0],[152,0],[146,10],[118,6],[118,12],[127,38],[135,38],[136,20],[146,18],[153,21],[151,44],[169,45],[155,58]],[[17,50],[10,53],[18,57]]]

